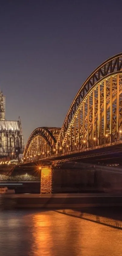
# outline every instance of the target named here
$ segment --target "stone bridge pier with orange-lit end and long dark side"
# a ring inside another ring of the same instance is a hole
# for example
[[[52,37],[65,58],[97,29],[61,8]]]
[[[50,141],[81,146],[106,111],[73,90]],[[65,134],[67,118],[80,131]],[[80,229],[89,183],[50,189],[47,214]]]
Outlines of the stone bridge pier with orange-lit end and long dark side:
[[[40,166],[40,193],[80,193],[93,191],[96,188],[94,170]]]

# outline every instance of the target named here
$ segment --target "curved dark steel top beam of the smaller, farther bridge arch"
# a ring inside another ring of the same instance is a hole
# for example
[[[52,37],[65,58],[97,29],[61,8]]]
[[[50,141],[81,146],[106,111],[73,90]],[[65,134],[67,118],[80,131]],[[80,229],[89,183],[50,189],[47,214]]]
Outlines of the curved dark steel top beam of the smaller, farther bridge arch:
[[[25,150],[24,150],[24,156],[26,156],[28,148],[32,142],[32,140],[36,137],[36,136],[42,136],[45,141],[48,143],[49,147],[51,148],[51,139],[53,140],[54,143],[56,143],[56,139],[54,138],[54,136],[52,135],[52,133],[48,130],[47,127],[38,127],[36,128],[30,135],[28,142],[25,146]]]

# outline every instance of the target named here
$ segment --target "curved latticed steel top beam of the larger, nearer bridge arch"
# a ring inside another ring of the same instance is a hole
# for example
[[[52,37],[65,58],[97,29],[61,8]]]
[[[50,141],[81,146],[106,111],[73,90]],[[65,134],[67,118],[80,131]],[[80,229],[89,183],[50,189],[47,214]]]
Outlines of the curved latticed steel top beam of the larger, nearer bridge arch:
[[[103,78],[109,76],[110,74],[115,74],[117,71],[122,69],[122,53],[117,54],[106,61],[104,61],[100,66],[98,66],[91,75],[86,79],[83,83],[79,91],[77,92],[71,106],[68,110],[67,116],[62,125],[57,144],[64,140],[65,134],[68,130],[69,124],[77,111],[81,101],[84,96],[86,96],[87,92],[98,82],[100,82]]]

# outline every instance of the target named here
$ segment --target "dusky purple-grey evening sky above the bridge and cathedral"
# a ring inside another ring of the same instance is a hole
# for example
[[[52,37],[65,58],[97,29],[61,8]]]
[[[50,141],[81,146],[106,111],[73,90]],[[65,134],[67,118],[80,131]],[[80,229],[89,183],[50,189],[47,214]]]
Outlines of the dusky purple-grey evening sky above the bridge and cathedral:
[[[89,74],[122,52],[122,0],[0,0],[0,88],[25,144],[61,127]]]

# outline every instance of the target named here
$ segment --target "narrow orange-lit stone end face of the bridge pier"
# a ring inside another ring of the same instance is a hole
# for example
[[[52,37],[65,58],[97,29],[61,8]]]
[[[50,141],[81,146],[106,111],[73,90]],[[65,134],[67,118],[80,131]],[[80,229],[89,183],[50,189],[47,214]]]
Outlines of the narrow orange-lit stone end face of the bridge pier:
[[[53,171],[51,168],[45,167],[41,169],[40,194],[52,193],[52,176]]]

